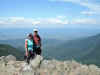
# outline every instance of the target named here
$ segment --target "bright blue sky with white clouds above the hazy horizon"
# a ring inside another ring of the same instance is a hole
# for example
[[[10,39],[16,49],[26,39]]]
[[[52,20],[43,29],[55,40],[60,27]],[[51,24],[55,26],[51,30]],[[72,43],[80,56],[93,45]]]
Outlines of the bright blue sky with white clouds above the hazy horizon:
[[[0,28],[100,28],[99,0],[0,0]]]

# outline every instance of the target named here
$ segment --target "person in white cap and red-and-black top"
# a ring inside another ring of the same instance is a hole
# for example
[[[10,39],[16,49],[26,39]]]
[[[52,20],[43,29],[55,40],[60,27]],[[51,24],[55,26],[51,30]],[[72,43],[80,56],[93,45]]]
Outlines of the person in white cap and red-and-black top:
[[[41,37],[39,36],[37,29],[34,29],[33,40],[36,46],[36,54],[41,55]]]

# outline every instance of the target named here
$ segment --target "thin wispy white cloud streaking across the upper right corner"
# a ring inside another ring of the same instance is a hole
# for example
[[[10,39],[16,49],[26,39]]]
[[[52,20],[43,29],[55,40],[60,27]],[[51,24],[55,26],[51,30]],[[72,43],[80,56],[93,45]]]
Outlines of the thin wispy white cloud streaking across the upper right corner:
[[[90,0],[49,0],[51,2],[70,2],[70,3],[74,3],[74,4],[79,4],[80,6],[83,7],[87,7],[87,10],[82,11],[82,14],[85,15],[100,15],[100,4],[96,3],[96,2],[91,2]]]

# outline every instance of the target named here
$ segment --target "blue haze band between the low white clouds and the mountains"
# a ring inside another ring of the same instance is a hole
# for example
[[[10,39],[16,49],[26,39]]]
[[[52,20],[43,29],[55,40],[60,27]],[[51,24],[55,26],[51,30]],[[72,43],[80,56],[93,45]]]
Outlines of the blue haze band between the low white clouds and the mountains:
[[[33,28],[8,28],[0,29],[0,39],[21,39],[26,38],[28,33],[32,33]],[[100,33],[99,29],[85,28],[39,28],[39,33],[42,38],[55,39],[75,39],[87,37]]]

